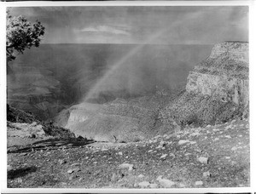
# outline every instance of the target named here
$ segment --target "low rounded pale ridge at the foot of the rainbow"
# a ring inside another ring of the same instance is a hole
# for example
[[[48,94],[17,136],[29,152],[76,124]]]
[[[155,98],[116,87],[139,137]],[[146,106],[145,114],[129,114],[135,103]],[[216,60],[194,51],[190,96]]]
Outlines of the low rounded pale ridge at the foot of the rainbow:
[[[61,111],[55,121],[70,128],[76,136],[97,141],[138,141],[156,134],[178,130],[177,123],[170,119],[168,127],[158,116],[160,101],[167,96],[160,94],[137,97],[132,100],[116,99],[105,104],[81,103]]]

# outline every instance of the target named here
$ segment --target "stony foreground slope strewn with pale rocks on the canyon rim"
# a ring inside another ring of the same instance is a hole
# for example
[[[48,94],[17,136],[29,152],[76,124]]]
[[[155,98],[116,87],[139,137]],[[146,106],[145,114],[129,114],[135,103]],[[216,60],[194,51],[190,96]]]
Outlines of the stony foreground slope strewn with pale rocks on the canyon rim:
[[[38,135],[38,136],[37,136]],[[233,120],[132,143],[8,137],[8,187],[191,188],[250,185],[249,124]]]

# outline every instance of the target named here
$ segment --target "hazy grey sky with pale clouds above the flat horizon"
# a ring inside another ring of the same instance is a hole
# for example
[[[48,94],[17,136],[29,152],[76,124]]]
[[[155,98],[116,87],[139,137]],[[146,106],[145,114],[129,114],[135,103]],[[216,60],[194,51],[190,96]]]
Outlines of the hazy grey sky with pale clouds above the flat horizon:
[[[219,43],[248,40],[248,8],[225,6],[13,8],[45,26],[43,43]]]

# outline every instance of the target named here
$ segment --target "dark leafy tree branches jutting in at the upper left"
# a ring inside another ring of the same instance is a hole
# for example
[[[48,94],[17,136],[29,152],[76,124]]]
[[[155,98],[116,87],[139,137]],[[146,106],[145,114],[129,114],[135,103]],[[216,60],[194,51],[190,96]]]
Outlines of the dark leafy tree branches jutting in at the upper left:
[[[23,54],[26,48],[38,47],[44,36],[44,26],[38,20],[32,24],[26,17],[6,15],[6,57],[7,62],[15,60],[16,54]]]

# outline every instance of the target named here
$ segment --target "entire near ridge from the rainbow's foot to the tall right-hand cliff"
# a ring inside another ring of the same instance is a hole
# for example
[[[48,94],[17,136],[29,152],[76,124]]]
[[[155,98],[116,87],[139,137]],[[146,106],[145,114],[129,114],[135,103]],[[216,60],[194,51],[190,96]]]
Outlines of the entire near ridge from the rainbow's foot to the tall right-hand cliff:
[[[139,141],[248,117],[248,44],[218,43],[189,72],[185,89],[161,89],[103,104],[84,101],[61,111],[56,123],[97,141]],[[65,119],[63,119],[65,118]]]

